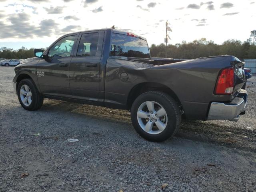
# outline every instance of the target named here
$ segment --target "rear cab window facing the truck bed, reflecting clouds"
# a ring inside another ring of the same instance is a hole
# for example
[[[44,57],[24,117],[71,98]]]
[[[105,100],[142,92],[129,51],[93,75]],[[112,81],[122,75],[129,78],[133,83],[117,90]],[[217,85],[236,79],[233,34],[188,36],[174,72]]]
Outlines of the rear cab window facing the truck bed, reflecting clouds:
[[[113,33],[110,56],[124,56],[134,58],[150,58],[148,43],[146,40]]]

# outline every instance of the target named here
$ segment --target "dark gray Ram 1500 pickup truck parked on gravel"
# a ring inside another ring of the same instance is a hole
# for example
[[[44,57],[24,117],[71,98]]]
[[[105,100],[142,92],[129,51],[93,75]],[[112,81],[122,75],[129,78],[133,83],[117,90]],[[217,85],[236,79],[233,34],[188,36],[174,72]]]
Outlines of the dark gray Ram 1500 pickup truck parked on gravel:
[[[181,117],[237,121],[245,113],[244,64],[232,55],[152,58],[145,38],[116,29],[67,34],[34,54],[14,69],[26,110],[44,98],[127,109],[150,141],[173,136]]]

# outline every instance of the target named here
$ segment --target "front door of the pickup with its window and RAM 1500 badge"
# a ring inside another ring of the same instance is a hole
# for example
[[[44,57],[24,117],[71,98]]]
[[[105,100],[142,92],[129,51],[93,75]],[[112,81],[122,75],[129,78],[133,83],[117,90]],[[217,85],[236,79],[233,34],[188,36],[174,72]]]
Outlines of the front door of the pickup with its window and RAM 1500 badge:
[[[78,35],[66,36],[50,47],[37,64],[37,78],[43,94],[70,95],[68,70]]]

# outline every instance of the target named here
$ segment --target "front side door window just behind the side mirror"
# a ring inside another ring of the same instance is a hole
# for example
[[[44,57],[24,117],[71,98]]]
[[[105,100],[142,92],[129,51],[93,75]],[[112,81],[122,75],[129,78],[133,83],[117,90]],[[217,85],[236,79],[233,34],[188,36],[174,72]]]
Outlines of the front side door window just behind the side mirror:
[[[70,57],[77,36],[67,36],[56,42],[49,50],[49,57]]]

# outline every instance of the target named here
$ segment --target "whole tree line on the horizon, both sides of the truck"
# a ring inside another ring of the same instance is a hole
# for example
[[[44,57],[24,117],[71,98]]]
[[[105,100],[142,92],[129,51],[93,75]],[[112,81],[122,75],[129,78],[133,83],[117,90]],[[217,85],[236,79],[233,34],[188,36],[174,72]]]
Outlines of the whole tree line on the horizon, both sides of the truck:
[[[152,57],[165,57],[164,43],[150,46],[150,54]],[[45,50],[44,48],[41,48]],[[168,44],[167,57],[168,58],[181,58],[193,59],[215,55],[234,55],[237,58],[243,59],[256,59],[256,30],[251,31],[250,38],[247,41],[241,42],[240,40],[226,40],[221,45],[208,41],[206,38],[194,40],[192,42],[182,41],[181,44]],[[26,59],[34,57],[34,48],[27,49],[22,47],[18,50],[10,48],[0,48],[0,58],[6,59]]]

